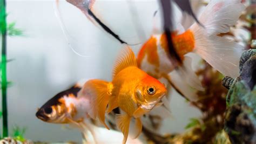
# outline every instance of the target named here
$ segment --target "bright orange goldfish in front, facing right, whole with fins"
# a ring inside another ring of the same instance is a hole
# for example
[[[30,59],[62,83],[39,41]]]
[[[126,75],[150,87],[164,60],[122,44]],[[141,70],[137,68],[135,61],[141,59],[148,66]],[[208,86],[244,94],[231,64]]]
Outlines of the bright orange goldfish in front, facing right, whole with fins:
[[[124,113],[116,116],[116,123],[124,134],[125,143],[131,119],[136,119],[135,133],[138,137],[142,131],[140,116],[160,104],[159,101],[166,93],[164,84],[140,70],[134,53],[130,47],[125,47],[114,65],[113,80],[89,80],[78,93],[78,97],[83,95],[90,98],[91,109],[88,114],[91,118],[99,118],[107,129],[109,127],[105,124],[105,113],[117,107],[122,109]]]

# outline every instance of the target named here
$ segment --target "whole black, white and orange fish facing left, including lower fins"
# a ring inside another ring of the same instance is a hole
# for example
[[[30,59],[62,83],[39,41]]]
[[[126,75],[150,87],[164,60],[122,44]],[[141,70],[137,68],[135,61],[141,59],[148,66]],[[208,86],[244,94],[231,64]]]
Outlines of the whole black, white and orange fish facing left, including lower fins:
[[[83,137],[91,140],[87,130],[95,139],[95,132],[90,124],[90,116],[87,114],[87,109],[90,107],[89,99],[85,97],[77,97],[77,93],[82,86],[79,84],[56,94],[53,98],[48,100],[41,108],[38,109],[36,116],[42,121],[53,124],[70,124],[77,127],[82,132]]]

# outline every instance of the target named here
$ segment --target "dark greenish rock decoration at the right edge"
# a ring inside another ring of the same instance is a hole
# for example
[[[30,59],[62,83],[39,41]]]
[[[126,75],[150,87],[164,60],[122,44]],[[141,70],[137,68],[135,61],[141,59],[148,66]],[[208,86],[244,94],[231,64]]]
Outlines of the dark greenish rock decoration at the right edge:
[[[256,139],[256,50],[242,53],[240,76],[225,77],[223,85],[229,89],[225,115],[225,131],[232,143],[255,143]]]

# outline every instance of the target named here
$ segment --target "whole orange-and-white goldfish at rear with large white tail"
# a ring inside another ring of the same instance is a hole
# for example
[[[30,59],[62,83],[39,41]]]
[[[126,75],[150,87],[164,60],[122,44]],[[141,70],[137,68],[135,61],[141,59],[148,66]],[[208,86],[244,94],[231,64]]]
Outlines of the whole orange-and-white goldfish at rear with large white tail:
[[[199,16],[199,22],[204,27],[194,23],[184,32],[171,33],[174,49],[183,60],[183,66],[186,69],[186,71],[181,71],[182,78],[188,85],[203,90],[196,74],[191,72],[191,59],[185,56],[190,52],[199,54],[201,58],[225,76],[234,78],[239,75],[242,46],[218,35],[229,32],[230,26],[236,24],[244,9],[245,6],[240,0],[212,0]],[[154,78],[164,77],[172,81],[174,85],[182,83],[181,78],[174,81],[169,75],[176,65],[169,59],[167,52],[169,51],[165,35],[153,35],[139,51],[138,66]],[[181,84],[177,88],[184,91]],[[184,95],[190,100],[197,100],[196,95],[190,92],[186,92]]]

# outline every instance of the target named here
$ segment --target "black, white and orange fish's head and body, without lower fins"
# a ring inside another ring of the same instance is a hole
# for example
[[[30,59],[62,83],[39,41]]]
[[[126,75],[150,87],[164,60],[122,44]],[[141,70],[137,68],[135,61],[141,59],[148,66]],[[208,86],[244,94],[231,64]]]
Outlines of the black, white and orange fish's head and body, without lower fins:
[[[83,108],[88,103],[84,101],[84,106],[79,106],[77,93],[80,87],[73,86],[66,91],[56,94],[53,98],[47,101],[41,108],[38,109],[37,118],[50,123],[68,124],[69,119],[80,121],[83,116],[80,116],[80,108]]]

